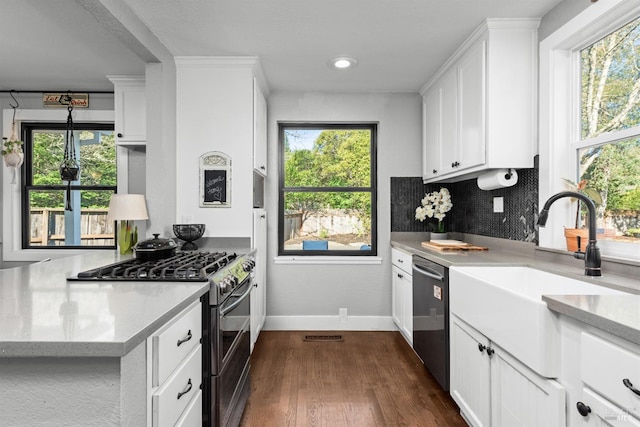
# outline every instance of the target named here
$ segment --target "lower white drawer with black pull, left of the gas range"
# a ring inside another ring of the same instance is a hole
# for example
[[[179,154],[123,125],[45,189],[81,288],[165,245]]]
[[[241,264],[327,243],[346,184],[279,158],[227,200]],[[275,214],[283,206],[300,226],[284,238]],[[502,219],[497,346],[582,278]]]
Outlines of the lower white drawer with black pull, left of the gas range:
[[[173,426],[202,383],[202,346],[198,345],[151,398],[153,427]]]

